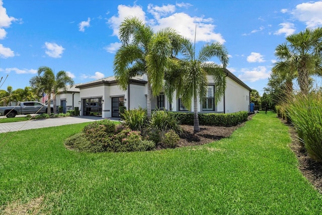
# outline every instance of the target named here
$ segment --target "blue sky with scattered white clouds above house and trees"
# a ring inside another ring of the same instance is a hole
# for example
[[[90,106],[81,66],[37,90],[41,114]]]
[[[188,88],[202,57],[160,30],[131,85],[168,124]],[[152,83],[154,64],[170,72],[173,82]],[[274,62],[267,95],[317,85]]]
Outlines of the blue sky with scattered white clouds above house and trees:
[[[197,25],[197,52],[207,42],[224,44],[227,68],[262,95],[276,46],[322,26],[322,1],[0,0],[0,78],[8,75],[0,89],[29,86],[43,65],[66,71],[75,84],[113,76],[118,26],[127,16],[192,41]]]

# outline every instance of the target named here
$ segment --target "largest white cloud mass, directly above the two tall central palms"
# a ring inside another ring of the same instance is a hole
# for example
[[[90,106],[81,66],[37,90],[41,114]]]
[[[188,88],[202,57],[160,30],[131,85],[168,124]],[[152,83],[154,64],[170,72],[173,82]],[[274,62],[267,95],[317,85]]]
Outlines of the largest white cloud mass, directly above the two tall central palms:
[[[178,5],[178,4],[177,4]],[[180,5],[180,4],[179,4]],[[180,7],[180,6],[177,7]],[[119,5],[118,15],[108,20],[108,24],[113,28],[113,35],[118,36],[118,29],[125,17],[135,14],[144,23],[151,25],[154,31],[171,27],[179,34],[185,35],[190,40],[195,38],[195,28],[197,25],[196,42],[218,41],[224,43],[225,40],[220,33],[214,31],[215,25],[213,19],[204,17],[191,17],[186,13],[174,13],[175,8],[172,5],[157,7],[149,5],[148,12],[152,13],[154,19],[146,20],[146,16],[141,7]]]

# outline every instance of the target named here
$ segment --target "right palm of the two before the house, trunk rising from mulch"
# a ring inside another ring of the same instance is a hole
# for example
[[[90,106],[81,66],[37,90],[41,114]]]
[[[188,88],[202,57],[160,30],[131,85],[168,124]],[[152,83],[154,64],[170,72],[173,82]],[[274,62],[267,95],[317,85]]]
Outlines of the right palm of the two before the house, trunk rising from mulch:
[[[200,131],[198,118],[198,95],[202,102],[208,86],[207,76],[213,78],[215,84],[214,103],[218,104],[224,95],[226,79],[224,69],[229,61],[228,52],[224,45],[213,42],[205,44],[195,57],[195,48],[190,40],[182,40],[183,59],[177,60],[177,67],[173,67],[166,75],[165,89],[167,96],[172,99],[174,90],[177,90],[177,97],[181,97],[185,107],[190,109],[191,99],[194,103],[194,132]],[[222,66],[211,62],[212,57],[219,58]],[[175,64],[173,64],[175,65]]]

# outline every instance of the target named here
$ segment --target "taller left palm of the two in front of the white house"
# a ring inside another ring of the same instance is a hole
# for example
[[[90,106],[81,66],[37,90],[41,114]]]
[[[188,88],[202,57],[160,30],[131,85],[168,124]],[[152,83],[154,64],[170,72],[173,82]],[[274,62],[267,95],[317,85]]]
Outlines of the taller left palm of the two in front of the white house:
[[[171,28],[153,33],[150,26],[136,17],[125,18],[119,29],[122,46],[114,58],[114,75],[122,90],[129,79],[147,76],[147,116],[151,116],[151,93],[157,96],[163,88],[165,70],[171,57],[180,49],[181,36]]]

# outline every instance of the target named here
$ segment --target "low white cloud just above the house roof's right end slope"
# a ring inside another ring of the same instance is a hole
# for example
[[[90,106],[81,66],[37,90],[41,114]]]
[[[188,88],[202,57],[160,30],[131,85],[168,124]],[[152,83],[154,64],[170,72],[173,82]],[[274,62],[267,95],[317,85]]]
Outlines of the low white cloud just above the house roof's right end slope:
[[[267,79],[271,75],[271,71],[267,71],[265,66],[258,66],[253,69],[243,68],[241,69],[243,74],[239,75],[238,78],[241,81],[256,82],[258,80]]]

